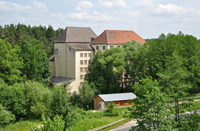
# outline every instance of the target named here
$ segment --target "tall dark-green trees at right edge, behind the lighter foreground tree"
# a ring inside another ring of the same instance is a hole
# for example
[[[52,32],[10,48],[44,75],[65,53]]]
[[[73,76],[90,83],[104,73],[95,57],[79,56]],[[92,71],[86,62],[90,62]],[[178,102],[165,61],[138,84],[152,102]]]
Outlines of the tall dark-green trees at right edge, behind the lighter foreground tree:
[[[173,53],[177,52],[182,57],[182,67],[191,73],[186,79],[192,84],[191,92],[200,90],[200,42],[191,35],[179,32],[177,35],[161,34],[159,38],[148,41],[149,72],[154,79],[158,79],[158,73],[167,68],[166,63]]]

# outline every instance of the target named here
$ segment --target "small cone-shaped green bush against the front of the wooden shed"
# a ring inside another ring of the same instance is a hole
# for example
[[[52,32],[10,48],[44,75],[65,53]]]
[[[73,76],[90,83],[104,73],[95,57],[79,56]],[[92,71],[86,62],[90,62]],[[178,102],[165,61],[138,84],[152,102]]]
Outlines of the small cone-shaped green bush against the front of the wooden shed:
[[[104,111],[105,116],[118,116],[118,112],[115,109],[115,104],[110,102],[108,108]]]

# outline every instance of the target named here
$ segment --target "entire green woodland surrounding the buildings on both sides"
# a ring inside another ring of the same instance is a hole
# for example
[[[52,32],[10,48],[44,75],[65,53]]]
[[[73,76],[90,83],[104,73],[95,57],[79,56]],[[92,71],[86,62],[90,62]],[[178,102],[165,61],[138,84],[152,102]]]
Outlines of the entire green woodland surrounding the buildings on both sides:
[[[84,117],[90,118],[81,109],[92,109],[95,95],[119,92],[138,96],[126,115],[138,118],[138,126],[132,130],[199,129],[196,111],[200,106],[192,115],[182,117],[181,112],[191,103],[180,104],[200,92],[197,38],[181,32],[161,34],[145,44],[131,41],[122,48],[98,51],[79,94],[68,96],[68,88],[49,85],[48,58],[53,54],[52,42],[62,30],[23,24],[0,26],[0,129],[37,119],[44,127],[31,130],[66,130]],[[77,109],[84,116],[78,116]]]

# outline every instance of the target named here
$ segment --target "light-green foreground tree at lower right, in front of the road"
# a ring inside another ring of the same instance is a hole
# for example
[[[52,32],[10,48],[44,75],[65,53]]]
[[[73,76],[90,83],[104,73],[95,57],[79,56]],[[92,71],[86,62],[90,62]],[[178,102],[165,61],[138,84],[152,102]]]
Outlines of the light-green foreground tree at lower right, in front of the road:
[[[133,88],[143,95],[133,101],[135,105],[132,107],[131,117],[138,117],[138,126],[133,127],[132,130],[172,130],[173,120],[169,118],[167,95],[160,90],[158,82],[146,78],[141,84],[136,83]]]

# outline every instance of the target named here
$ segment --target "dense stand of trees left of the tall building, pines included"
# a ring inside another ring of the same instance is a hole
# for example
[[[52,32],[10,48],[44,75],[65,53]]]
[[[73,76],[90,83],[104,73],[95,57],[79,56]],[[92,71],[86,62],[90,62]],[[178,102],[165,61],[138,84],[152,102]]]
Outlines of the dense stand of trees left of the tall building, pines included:
[[[23,24],[0,26],[0,78],[9,85],[26,80],[47,81],[48,58],[62,30]]]

